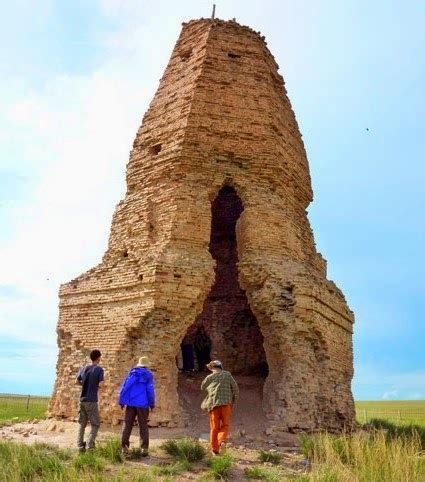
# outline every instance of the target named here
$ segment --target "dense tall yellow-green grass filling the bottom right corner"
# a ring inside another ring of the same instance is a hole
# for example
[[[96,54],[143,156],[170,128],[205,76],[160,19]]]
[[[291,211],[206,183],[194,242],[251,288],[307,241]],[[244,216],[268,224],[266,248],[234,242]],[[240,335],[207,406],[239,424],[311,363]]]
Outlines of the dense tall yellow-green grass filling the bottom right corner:
[[[382,431],[352,435],[317,434],[300,440],[312,462],[305,480],[328,482],[423,482],[425,458],[417,434],[388,438]]]

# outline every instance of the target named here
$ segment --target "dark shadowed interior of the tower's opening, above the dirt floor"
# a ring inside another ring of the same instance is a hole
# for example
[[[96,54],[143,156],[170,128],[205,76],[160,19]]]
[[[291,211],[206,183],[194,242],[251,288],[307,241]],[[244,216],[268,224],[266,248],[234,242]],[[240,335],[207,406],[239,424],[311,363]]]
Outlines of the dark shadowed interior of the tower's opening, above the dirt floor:
[[[236,223],[242,211],[231,186],[212,203],[209,250],[216,261],[215,282],[183,339],[183,371],[202,371],[210,359],[219,359],[235,375],[267,375],[263,335],[239,285]]]

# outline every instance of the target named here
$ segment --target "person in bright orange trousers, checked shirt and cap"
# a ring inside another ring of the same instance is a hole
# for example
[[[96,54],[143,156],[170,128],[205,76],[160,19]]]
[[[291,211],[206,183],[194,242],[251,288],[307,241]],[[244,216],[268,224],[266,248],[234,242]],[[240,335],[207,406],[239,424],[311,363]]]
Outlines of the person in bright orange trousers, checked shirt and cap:
[[[223,370],[219,360],[207,364],[208,375],[201,385],[207,395],[201,408],[208,412],[210,422],[210,446],[214,455],[224,453],[229,435],[230,416],[233,404],[239,397],[239,388],[230,372]]]

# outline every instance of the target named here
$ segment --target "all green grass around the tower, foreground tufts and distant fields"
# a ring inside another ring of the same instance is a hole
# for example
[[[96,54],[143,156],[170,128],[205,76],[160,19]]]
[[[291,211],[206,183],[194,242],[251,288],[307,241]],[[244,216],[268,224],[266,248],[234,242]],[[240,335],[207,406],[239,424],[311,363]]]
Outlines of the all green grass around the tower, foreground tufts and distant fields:
[[[47,404],[47,398],[31,398],[27,411],[25,398],[0,396],[0,426],[43,418]],[[318,434],[303,438],[302,450],[310,462],[308,472],[303,465],[297,469],[301,472],[284,465],[251,467],[245,470],[246,479],[424,481],[425,402],[356,402],[356,410],[360,423],[366,410],[367,423],[362,423],[362,431],[351,436]],[[241,470],[240,467],[233,469],[235,460],[228,455],[204,461],[206,450],[194,439],[169,440],[161,448],[173,457],[172,463],[163,460],[158,466],[142,468],[140,464],[123,460],[118,438],[106,439],[98,444],[95,452],[83,455],[45,443],[28,446],[0,441],[0,481],[165,482],[180,480],[185,472],[192,470],[202,480],[232,480]],[[140,460],[140,455],[140,449],[133,449],[130,459]],[[261,451],[259,461],[279,464],[281,456],[277,452]]]

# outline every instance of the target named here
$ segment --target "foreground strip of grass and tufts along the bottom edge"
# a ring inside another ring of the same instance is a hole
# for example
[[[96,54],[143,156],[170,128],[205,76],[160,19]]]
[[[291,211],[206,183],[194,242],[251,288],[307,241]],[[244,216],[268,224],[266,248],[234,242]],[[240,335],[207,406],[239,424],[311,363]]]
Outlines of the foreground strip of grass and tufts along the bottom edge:
[[[106,440],[94,452],[82,455],[48,444],[29,446],[0,441],[3,468],[0,481],[425,480],[425,457],[417,435],[391,434],[388,430],[364,431],[352,436],[306,435],[301,441],[302,454],[289,459],[282,454],[274,462],[265,458],[264,452],[255,451],[251,451],[248,461],[246,451],[233,448],[226,455],[211,457],[204,445],[190,439],[166,442],[152,451],[152,457],[143,460],[137,449],[130,452],[129,460],[124,460],[120,449],[117,438]]]

